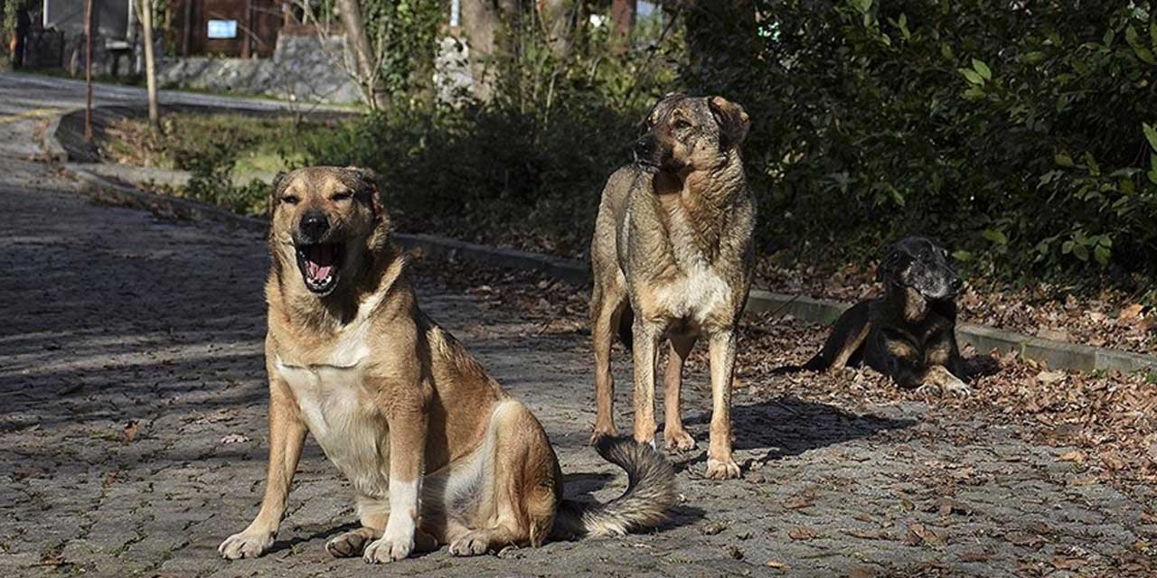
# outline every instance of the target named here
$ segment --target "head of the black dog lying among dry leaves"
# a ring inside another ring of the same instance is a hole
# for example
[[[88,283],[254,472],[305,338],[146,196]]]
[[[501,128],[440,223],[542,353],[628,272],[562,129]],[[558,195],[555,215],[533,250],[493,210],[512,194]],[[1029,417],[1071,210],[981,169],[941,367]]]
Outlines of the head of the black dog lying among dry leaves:
[[[964,287],[949,266],[948,251],[927,237],[907,237],[892,245],[876,279],[885,289],[909,288],[928,301],[951,299]]]

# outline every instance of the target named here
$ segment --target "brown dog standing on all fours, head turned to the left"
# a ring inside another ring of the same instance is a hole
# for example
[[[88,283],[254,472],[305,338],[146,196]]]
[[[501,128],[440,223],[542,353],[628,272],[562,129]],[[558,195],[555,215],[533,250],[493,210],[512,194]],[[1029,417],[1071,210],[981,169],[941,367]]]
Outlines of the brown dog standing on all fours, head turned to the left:
[[[683,429],[679,386],[683,364],[702,335],[712,376],[707,476],[738,477],[730,406],[736,324],[753,262],[756,210],[739,154],[750,119],[718,96],[668,95],[647,126],[635,143],[636,162],[606,183],[591,242],[594,438],[616,435],[611,341],[619,331],[634,354],[635,440],[655,443],[655,372],[666,335],[663,439],[668,447],[694,447]]]

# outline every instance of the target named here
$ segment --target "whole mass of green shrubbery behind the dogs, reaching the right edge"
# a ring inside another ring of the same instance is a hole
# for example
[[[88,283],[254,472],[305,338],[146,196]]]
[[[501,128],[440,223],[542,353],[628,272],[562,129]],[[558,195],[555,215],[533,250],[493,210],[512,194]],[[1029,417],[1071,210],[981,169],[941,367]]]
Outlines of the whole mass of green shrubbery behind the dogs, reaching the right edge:
[[[870,260],[919,232],[997,280],[1143,292],[1157,276],[1152,2],[679,6],[665,42],[624,58],[596,28],[559,60],[528,27],[489,102],[411,99],[307,158],[376,168],[403,227],[578,253],[654,99],[720,94],[753,118],[765,254]]]

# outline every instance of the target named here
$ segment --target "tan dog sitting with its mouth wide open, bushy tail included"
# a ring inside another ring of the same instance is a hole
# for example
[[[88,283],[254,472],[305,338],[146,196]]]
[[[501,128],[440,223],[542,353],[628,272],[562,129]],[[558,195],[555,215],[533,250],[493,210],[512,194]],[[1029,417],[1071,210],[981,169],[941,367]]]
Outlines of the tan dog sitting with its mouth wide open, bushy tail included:
[[[222,556],[273,544],[307,431],[349,479],[361,518],[326,544],[334,556],[391,562],[441,543],[470,556],[663,519],[671,466],[629,439],[599,446],[627,470],[620,498],[561,501],[543,427],[418,309],[368,171],[301,169],[270,202],[268,474],[260,512]]]

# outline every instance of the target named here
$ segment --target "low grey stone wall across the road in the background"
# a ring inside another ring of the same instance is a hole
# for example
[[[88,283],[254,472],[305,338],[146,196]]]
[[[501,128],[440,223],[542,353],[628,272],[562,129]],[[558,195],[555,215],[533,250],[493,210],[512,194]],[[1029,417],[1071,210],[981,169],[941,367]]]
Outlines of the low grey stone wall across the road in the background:
[[[346,73],[348,58],[344,36],[281,34],[273,58],[167,58],[157,81],[164,88],[352,104],[361,102],[361,90]]]

